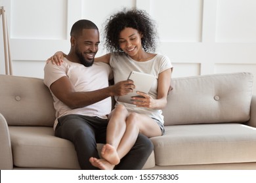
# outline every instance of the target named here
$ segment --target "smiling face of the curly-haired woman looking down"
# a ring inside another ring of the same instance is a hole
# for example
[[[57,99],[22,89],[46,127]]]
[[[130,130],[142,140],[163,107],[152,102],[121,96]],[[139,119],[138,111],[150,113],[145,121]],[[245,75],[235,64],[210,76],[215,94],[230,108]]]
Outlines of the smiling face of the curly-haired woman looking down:
[[[142,35],[131,27],[125,27],[119,34],[119,46],[129,56],[135,56],[142,50]]]

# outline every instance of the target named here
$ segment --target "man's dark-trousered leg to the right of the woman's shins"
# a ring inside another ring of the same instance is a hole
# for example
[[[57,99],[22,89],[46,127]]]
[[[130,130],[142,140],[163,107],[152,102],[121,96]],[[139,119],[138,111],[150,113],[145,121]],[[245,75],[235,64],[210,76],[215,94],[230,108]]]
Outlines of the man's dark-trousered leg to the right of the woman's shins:
[[[130,152],[116,165],[117,170],[140,170],[148,160],[154,146],[148,137],[139,133]]]

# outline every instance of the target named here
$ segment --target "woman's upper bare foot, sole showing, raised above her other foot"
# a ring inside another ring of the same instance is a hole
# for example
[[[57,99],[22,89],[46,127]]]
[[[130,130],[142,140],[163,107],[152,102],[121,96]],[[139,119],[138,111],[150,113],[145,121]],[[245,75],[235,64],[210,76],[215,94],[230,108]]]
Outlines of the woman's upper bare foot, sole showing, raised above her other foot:
[[[116,149],[110,144],[105,144],[102,147],[101,156],[102,158],[110,162],[112,165],[117,165],[120,162]]]

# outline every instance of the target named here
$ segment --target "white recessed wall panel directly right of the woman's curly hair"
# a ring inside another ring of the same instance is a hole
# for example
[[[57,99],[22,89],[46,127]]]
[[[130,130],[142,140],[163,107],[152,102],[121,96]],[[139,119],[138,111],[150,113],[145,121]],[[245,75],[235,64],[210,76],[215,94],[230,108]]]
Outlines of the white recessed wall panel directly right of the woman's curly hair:
[[[201,42],[202,0],[151,1],[162,42]]]

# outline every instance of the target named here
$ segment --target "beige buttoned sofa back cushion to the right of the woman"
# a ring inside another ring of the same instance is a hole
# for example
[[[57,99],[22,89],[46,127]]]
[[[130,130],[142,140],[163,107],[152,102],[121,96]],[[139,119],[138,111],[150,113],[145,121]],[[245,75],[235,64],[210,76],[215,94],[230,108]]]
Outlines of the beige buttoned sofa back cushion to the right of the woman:
[[[251,73],[173,78],[163,109],[165,125],[246,122],[252,87]]]

